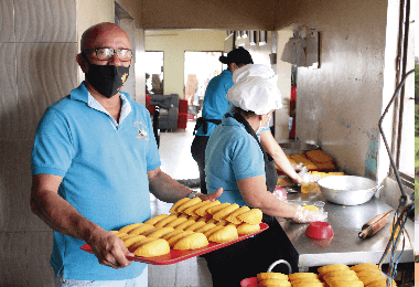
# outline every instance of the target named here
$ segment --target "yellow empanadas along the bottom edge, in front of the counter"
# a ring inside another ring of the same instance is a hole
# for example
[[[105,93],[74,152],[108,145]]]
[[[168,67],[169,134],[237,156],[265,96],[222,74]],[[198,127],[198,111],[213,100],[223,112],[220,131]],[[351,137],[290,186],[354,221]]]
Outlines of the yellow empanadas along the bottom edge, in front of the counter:
[[[259,273],[258,286],[283,287],[386,287],[387,278],[378,265],[363,263],[352,267],[342,264],[326,265],[318,268],[315,273]],[[396,283],[393,280],[393,285]]]

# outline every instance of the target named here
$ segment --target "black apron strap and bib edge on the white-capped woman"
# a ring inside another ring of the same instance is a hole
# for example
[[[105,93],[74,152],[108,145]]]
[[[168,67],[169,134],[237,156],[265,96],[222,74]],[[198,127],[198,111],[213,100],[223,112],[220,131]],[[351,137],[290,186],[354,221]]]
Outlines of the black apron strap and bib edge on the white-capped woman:
[[[253,136],[256,139],[256,141],[258,142],[259,148],[260,148],[261,152],[264,153],[265,177],[266,177],[267,190],[270,192],[273,192],[275,188],[277,187],[277,181],[278,181],[278,172],[277,172],[277,169],[275,168],[273,158],[265,151],[262,145],[260,144],[258,137],[256,136],[255,130],[250,127],[249,123],[240,114],[235,113],[234,116],[232,116],[230,114],[227,113],[225,115],[225,117],[233,117],[238,123],[244,125],[246,131],[250,136]]]

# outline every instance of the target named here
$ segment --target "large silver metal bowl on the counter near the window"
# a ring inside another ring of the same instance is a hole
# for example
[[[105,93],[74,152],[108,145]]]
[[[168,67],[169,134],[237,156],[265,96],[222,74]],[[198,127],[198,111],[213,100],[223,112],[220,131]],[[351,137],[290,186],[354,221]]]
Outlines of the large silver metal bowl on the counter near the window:
[[[331,176],[318,183],[327,201],[342,205],[363,204],[383,188],[374,180],[356,176]]]

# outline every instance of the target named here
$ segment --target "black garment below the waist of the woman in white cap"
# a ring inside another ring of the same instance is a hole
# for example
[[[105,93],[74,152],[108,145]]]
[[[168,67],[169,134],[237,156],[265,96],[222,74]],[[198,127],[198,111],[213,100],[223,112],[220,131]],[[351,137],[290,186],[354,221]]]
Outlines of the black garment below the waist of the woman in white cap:
[[[287,261],[292,272],[298,272],[298,253],[275,217],[264,215],[269,228],[247,240],[204,254],[216,287],[240,286],[245,278],[256,277],[268,270],[279,259]],[[289,274],[283,264],[272,272]]]

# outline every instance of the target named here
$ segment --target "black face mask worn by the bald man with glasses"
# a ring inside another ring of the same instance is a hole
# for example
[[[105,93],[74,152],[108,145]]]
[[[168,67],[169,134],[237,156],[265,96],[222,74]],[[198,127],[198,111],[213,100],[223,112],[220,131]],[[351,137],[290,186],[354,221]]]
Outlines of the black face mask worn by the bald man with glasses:
[[[86,78],[88,83],[107,98],[115,96],[129,75],[129,67],[95,65],[89,63]]]

